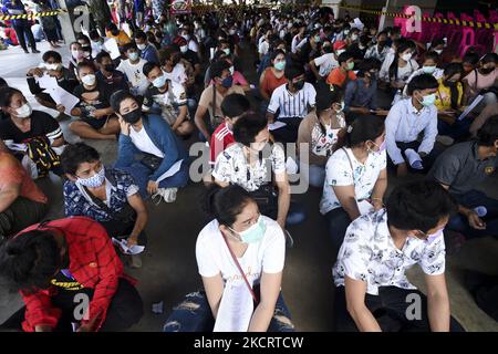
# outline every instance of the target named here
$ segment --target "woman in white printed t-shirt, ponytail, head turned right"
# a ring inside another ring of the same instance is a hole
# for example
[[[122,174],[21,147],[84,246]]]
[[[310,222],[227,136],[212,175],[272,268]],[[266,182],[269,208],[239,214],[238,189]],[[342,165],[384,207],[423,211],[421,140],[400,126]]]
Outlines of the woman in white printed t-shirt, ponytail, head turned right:
[[[345,146],[326,163],[320,212],[339,249],[351,221],[383,207],[387,187],[384,119],[359,116],[347,128]]]

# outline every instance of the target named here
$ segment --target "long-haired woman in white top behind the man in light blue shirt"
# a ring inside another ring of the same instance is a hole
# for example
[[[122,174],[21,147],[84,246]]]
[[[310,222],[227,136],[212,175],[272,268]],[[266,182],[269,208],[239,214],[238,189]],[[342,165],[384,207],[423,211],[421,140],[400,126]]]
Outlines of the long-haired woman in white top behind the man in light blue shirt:
[[[402,41],[397,46],[394,56],[386,56],[382,64],[380,79],[390,86],[390,93],[394,97],[395,93],[406,85],[406,82],[414,71],[418,69],[417,62],[412,59],[416,45],[412,41]]]

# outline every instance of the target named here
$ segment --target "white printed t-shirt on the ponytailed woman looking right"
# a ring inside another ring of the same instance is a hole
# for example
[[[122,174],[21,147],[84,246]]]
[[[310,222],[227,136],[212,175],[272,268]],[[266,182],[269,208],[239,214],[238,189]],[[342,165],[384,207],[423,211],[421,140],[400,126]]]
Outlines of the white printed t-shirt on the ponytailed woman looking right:
[[[320,212],[322,215],[340,208],[341,202],[335,196],[333,186],[351,186],[354,185],[356,200],[367,199],[372,195],[372,190],[377,181],[378,175],[387,166],[385,150],[381,154],[369,154],[365,164],[360,163],[354,157],[351,148],[340,148],[329,158],[325,166],[325,184],[323,186],[323,196],[320,201]],[[353,164],[351,169],[350,160]]]

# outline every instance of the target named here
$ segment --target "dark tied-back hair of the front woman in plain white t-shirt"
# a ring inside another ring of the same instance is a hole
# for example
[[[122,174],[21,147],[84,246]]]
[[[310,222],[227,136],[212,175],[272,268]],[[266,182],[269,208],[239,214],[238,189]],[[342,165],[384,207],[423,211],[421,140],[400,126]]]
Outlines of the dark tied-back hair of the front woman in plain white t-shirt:
[[[243,208],[255,202],[249,192],[238,185],[225,188],[212,186],[206,192],[204,211],[218,220],[219,225],[231,227]]]

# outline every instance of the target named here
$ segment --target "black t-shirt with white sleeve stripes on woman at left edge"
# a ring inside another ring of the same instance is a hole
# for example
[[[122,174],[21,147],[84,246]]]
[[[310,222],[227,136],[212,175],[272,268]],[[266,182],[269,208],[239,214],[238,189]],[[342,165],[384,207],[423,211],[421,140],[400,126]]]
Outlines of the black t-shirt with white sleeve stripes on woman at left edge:
[[[44,112],[33,111],[31,114],[31,129],[25,133],[21,132],[11,118],[0,122],[0,138],[6,143],[21,144],[39,136],[46,136],[51,139],[62,136],[58,121]]]

